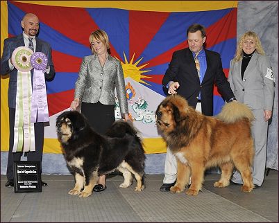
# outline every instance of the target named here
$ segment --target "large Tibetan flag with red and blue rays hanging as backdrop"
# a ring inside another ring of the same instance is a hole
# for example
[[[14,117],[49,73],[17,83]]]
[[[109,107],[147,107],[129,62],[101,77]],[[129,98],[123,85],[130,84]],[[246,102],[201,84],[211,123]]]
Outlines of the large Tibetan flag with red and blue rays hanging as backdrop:
[[[146,154],[166,151],[155,127],[155,110],[165,97],[161,82],[172,54],[187,47],[188,26],[205,26],[206,48],[220,53],[226,75],[235,53],[237,1],[7,1],[6,10],[6,14],[1,11],[1,20],[6,15],[9,37],[22,33],[22,17],[33,12],[40,19],[38,37],[51,44],[56,76],[47,82],[50,121],[44,152],[61,153],[56,117],[69,109],[74,98],[82,59],[91,54],[92,31],[108,33],[111,55],[121,61],[129,112],[142,133]],[[1,81],[1,101],[7,94],[5,84]],[[223,103],[214,89],[214,114]],[[4,102],[1,114],[8,116]],[[115,115],[119,117],[117,103]],[[8,119],[1,121],[1,150],[6,151],[8,136],[4,141],[2,132],[8,132]]]

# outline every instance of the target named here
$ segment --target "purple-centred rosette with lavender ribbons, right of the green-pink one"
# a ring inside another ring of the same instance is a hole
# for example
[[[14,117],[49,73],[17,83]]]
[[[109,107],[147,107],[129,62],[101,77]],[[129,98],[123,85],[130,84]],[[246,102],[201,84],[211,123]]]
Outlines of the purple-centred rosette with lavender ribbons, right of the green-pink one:
[[[33,53],[31,66],[34,68],[31,123],[48,122],[49,108],[47,105],[46,81],[42,72],[47,68],[47,56],[42,52]]]

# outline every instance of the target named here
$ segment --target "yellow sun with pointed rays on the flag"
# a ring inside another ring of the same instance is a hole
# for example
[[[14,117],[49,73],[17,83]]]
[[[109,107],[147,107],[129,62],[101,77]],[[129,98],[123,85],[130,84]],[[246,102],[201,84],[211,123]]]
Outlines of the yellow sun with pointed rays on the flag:
[[[152,78],[152,77],[142,75],[142,73],[146,73],[146,72],[149,72],[151,70],[147,70],[147,71],[142,71],[141,70],[141,69],[144,68],[144,66],[147,66],[148,64],[143,64],[142,66],[137,66],[137,64],[139,64],[144,57],[140,58],[140,60],[137,60],[137,62],[135,62],[133,64],[134,57],[135,57],[135,53],[133,54],[133,57],[130,60],[130,62],[128,62],[128,60],[126,58],[126,55],[124,53],[125,63],[121,62],[121,60],[120,60],[121,66],[122,66],[122,69],[123,69],[123,72],[124,72],[124,78],[130,77],[130,78],[133,78],[133,80],[135,80],[137,82],[148,84],[144,80],[142,80],[142,78]],[[117,60],[119,60],[119,59],[117,58]],[[148,85],[150,85],[150,84],[148,84]]]

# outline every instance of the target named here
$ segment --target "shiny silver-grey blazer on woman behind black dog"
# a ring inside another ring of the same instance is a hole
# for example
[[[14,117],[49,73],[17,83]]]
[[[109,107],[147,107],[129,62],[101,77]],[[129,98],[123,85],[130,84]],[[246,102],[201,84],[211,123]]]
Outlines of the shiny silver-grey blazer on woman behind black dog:
[[[108,55],[103,67],[96,54],[83,57],[74,98],[82,102],[115,105],[115,89],[121,114],[128,113],[124,73],[119,60]]]

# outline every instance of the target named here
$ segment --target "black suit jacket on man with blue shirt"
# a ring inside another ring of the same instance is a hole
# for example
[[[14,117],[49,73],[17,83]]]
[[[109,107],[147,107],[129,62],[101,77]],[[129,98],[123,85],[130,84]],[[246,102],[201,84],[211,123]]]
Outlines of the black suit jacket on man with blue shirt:
[[[207,70],[203,82],[200,84],[194,57],[189,48],[174,52],[169,68],[162,80],[164,92],[169,81],[179,82],[177,93],[188,101],[189,105],[196,107],[198,93],[201,91],[202,112],[207,116],[213,115],[213,87],[217,84],[221,96],[228,101],[235,97],[230,84],[223,73],[219,53],[205,50]]]

